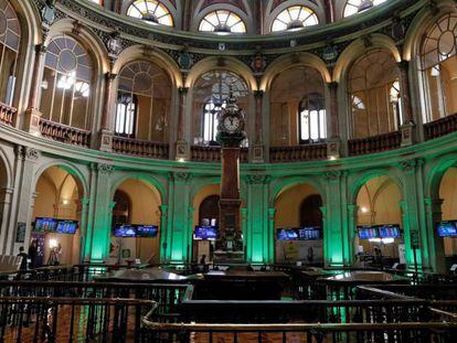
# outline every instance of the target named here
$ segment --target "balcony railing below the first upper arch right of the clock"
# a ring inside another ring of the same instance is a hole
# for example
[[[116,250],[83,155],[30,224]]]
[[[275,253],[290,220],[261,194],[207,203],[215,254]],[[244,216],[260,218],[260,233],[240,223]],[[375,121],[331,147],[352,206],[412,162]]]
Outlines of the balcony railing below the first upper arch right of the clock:
[[[272,163],[301,162],[325,159],[327,159],[327,144],[272,147],[269,149],[269,161]]]

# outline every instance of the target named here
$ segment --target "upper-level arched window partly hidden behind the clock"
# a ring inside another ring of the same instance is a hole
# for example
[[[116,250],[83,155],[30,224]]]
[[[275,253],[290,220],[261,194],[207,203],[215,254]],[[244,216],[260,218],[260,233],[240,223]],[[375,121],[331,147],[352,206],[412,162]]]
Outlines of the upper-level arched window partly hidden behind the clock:
[[[217,116],[225,107],[230,89],[237,98],[241,108],[246,110],[248,89],[246,83],[236,74],[225,71],[214,71],[200,77],[194,87],[194,108],[201,108],[201,127],[195,136],[196,144],[217,144]],[[244,141],[247,144],[247,140]]]

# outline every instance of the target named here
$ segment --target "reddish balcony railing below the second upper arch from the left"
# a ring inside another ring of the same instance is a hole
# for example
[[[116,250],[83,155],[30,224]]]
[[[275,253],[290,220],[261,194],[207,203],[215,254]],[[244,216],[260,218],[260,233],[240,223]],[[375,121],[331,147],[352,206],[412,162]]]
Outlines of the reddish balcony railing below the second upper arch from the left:
[[[67,144],[88,148],[91,144],[91,132],[83,129],[72,128],[70,126],[54,122],[51,120],[40,119],[41,136],[64,142]]]

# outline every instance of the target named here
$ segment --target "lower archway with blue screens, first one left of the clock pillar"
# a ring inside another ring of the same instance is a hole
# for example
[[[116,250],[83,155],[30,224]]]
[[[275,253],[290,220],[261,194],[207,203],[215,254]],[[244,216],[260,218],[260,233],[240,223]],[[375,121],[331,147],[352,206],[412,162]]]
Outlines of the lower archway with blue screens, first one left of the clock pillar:
[[[127,179],[114,193],[110,264],[160,262],[159,191],[145,180]]]

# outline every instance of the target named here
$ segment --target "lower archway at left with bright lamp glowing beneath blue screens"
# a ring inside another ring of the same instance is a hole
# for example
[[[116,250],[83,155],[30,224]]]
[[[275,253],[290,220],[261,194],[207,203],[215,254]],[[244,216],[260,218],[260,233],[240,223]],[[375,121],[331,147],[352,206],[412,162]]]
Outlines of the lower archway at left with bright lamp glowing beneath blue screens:
[[[51,167],[40,175],[30,242],[35,247],[31,249],[33,267],[81,261],[83,196],[79,180],[64,168]]]

